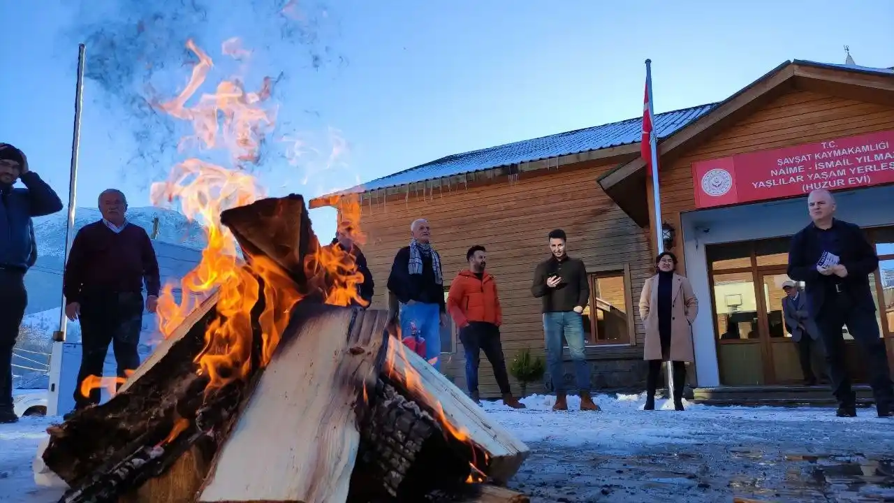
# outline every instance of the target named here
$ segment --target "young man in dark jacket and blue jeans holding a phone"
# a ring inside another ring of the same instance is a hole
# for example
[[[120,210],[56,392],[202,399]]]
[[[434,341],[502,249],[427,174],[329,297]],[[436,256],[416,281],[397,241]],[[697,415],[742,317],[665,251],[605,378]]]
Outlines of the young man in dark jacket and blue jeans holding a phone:
[[[568,410],[565,372],[562,369],[562,338],[568,343],[578,378],[580,410],[598,411],[590,397],[590,367],[584,354],[584,308],[590,303],[589,278],[583,260],[571,259],[565,252],[565,231],[549,234],[552,257],[537,265],[531,294],[543,302],[546,360],[556,392],[554,411]]]

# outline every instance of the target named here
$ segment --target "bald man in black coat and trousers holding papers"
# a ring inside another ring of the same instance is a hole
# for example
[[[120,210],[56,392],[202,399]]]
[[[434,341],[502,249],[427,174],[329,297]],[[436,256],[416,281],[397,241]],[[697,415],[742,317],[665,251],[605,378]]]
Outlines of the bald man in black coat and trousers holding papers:
[[[866,358],[879,416],[890,417],[894,415],[894,386],[869,285],[869,275],[878,269],[879,257],[860,227],[834,217],[835,199],[829,191],[810,192],[807,206],[813,222],[792,237],[789,277],[806,284],[807,311],[816,321],[825,346],[832,394],[839,402],[838,415],[856,416],[856,396],[841,332],[847,325]]]

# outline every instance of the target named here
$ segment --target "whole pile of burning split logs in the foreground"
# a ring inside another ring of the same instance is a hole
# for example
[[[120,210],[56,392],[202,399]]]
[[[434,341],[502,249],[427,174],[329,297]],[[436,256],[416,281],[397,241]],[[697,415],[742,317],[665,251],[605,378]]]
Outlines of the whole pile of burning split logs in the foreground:
[[[221,221],[247,265],[223,267],[112,400],[48,430],[62,501],[526,500],[463,482],[509,480],[527,446],[405,352],[384,311],[323,303],[355,291],[350,256],[325,256],[300,196]]]

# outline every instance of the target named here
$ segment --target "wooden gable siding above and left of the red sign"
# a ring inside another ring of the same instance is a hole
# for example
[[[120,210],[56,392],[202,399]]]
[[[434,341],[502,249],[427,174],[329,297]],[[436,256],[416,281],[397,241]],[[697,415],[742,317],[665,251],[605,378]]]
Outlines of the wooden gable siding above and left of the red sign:
[[[791,91],[663,165],[659,175],[662,216],[679,229],[679,213],[696,209],[693,162],[889,129],[894,129],[892,107]],[[648,198],[651,203],[651,186]],[[680,269],[685,272],[681,249],[679,259]]]

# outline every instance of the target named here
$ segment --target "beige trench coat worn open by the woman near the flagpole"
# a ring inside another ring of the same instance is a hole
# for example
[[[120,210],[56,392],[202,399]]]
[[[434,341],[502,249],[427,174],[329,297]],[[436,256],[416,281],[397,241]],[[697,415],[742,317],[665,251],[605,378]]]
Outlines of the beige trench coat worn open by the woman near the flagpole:
[[[698,313],[698,299],[689,280],[673,275],[671,287],[671,354],[673,362],[692,362],[692,322]],[[645,280],[643,293],[639,295],[639,318],[645,326],[645,360],[663,360],[662,340],[658,335],[658,275]]]

